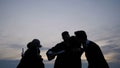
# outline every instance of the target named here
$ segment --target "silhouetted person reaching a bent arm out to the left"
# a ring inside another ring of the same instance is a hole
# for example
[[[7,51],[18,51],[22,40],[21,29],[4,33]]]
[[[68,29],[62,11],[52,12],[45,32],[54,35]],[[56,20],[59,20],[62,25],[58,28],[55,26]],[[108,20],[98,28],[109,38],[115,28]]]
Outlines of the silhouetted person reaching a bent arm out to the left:
[[[63,41],[56,44],[54,47],[49,49],[47,51],[47,57],[48,60],[54,59],[56,56],[56,60],[54,63],[54,68],[65,68],[66,65],[66,54],[65,54],[65,49],[69,46],[68,40],[70,38],[70,35],[67,31],[64,31],[62,33],[62,39]]]

